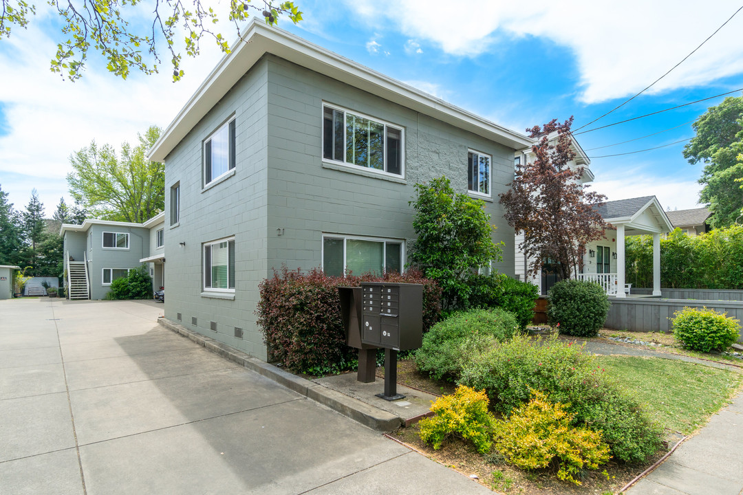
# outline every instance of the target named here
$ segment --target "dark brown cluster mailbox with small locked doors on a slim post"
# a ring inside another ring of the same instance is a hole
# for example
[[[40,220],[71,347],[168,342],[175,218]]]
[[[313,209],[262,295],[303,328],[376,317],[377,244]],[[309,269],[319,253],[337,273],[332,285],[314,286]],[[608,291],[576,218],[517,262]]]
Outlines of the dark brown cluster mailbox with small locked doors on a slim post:
[[[383,347],[384,393],[388,401],[398,394],[398,352],[423,343],[423,286],[420,283],[363,282],[361,342]]]

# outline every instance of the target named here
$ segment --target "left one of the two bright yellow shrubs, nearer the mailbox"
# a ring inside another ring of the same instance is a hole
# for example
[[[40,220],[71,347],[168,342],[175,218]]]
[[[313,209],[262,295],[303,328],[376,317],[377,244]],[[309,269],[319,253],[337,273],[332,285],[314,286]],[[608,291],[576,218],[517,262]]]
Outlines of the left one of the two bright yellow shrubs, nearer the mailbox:
[[[436,399],[431,406],[435,416],[421,419],[421,439],[438,450],[444,440],[460,436],[472,441],[479,453],[487,453],[493,443],[495,422],[487,404],[484,391],[457,387],[452,395]]]

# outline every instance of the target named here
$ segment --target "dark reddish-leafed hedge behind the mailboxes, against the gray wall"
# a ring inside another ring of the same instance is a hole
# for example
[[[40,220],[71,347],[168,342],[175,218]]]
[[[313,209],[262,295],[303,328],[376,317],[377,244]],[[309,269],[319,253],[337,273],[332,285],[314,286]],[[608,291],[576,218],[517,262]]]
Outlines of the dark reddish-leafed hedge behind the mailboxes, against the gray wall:
[[[323,375],[348,370],[357,364],[357,350],[345,345],[338,286],[361,281],[421,283],[424,332],[438,319],[441,289],[411,270],[384,277],[331,277],[319,268],[282,269],[262,281],[256,314],[270,355],[297,373]]]

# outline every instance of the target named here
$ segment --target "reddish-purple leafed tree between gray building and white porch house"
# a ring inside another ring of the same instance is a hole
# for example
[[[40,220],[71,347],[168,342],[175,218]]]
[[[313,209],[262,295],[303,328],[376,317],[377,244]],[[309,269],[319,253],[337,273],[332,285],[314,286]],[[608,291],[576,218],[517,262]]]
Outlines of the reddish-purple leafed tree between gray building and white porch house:
[[[535,160],[516,167],[511,189],[500,195],[508,225],[524,233],[521,245],[537,275],[550,259],[563,279],[570,278],[583,259],[584,246],[603,238],[609,227],[596,211],[606,196],[588,191],[580,181],[583,167],[570,168],[573,117],[552,119],[541,128],[527,129],[539,141],[531,150]]]

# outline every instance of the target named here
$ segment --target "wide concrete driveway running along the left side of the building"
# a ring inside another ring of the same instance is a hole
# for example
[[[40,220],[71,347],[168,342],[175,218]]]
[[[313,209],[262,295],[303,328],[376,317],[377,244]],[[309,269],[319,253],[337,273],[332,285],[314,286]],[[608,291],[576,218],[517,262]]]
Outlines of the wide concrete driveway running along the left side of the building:
[[[156,323],[0,301],[2,494],[489,494]]]

